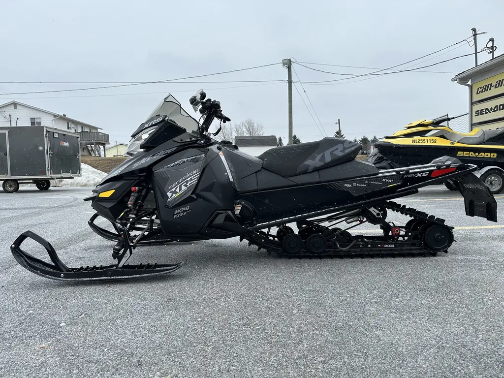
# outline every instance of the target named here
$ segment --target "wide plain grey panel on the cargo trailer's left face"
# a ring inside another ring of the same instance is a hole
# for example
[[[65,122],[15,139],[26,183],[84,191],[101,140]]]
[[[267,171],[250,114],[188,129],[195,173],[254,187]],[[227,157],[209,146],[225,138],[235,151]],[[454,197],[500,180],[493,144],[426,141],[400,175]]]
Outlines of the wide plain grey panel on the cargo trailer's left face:
[[[13,127],[8,131],[11,176],[46,176],[44,128],[41,126]]]

